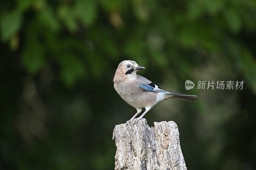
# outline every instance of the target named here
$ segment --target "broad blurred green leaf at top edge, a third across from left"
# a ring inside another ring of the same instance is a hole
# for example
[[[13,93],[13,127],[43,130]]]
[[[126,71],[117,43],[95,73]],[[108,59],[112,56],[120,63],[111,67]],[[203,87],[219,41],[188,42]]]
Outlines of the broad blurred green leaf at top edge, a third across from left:
[[[92,0],[78,0],[74,12],[84,26],[91,26],[97,17],[97,4]]]

